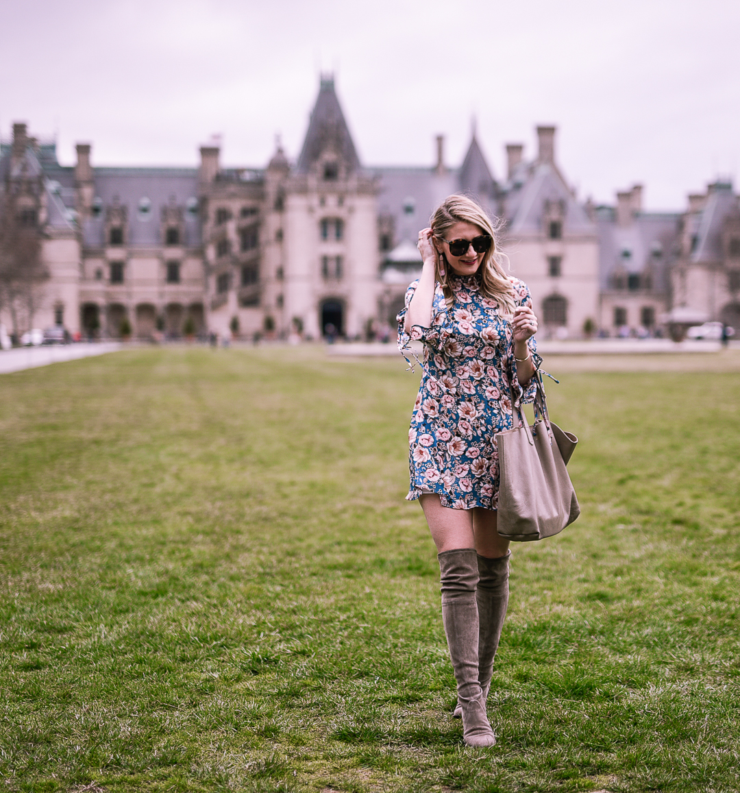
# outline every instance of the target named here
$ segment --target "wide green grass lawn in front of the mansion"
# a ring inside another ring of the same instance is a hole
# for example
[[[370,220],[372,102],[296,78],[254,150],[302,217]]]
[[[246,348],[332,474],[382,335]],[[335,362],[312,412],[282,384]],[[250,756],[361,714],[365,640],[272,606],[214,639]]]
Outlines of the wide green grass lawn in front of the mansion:
[[[2,791],[740,789],[740,372],[549,381],[583,512],[514,547],[490,750],[404,500],[417,385],[318,349],[0,377]]]

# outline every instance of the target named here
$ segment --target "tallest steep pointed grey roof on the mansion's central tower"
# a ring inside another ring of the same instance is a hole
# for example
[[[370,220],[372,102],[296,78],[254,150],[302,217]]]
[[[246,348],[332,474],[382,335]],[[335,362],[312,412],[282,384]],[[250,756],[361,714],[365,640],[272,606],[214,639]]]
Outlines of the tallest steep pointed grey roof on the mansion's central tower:
[[[305,174],[326,147],[332,147],[339,154],[348,170],[358,170],[360,167],[355,144],[335,94],[334,78],[330,75],[321,77],[319,96],[313,106],[309,130],[298,158],[299,173]]]

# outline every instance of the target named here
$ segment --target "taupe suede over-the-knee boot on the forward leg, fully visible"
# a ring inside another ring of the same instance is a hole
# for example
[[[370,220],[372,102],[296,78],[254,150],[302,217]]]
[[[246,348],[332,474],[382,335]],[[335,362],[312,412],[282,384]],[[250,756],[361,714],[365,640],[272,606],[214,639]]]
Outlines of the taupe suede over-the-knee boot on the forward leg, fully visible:
[[[462,737],[470,746],[493,746],[496,737],[485,714],[478,682],[477,554],[473,548],[460,548],[443,551],[437,558],[442,581],[442,621],[458,684]]]

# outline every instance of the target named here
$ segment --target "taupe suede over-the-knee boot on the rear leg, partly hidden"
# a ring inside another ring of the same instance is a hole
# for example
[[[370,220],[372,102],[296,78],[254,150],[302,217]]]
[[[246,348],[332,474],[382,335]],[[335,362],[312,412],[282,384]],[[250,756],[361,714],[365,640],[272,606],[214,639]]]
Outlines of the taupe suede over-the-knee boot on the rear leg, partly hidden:
[[[477,554],[476,554],[477,555]],[[483,702],[488,699],[493,675],[493,659],[496,657],[501,629],[508,607],[508,561],[512,556],[489,559],[477,556],[478,583],[476,600],[478,606],[478,683],[483,692]],[[462,704],[454,709],[454,716],[462,716]]]

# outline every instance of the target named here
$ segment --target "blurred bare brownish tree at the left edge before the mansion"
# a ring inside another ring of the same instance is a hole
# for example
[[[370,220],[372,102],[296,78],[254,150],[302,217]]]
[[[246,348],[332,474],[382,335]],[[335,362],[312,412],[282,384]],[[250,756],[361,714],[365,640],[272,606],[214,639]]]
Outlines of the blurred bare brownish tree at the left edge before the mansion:
[[[36,224],[29,222],[29,213],[18,213],[12,201],[0,197],[0,309],[10,313],[16,338],[19,314],[23,312],[27,323],[33,323],[48,278]]]

